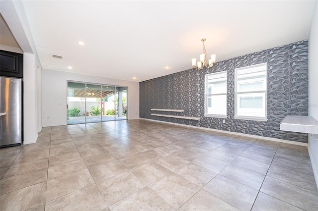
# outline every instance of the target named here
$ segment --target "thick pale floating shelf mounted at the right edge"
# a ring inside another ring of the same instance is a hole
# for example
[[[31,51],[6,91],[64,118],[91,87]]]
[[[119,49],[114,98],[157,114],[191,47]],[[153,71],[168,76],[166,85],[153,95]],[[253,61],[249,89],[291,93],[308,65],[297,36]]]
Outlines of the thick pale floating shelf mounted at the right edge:
[[[318,121],[312,116],[286,116],[280,130],[318,134]]]

